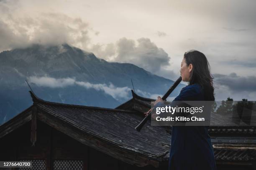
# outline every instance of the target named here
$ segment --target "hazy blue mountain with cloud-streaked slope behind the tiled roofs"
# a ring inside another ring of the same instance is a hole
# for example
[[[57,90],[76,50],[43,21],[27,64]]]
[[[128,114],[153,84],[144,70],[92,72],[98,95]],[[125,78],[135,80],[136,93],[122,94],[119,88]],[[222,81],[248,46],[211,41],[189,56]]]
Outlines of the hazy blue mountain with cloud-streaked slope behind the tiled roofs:
[[[109,108],[131,98],[131,79],[136,92],[145,97],[164,94],[174,82],[133,64],[107,62],[68,44],[3,51],[0,63],[0,124],[32,104],[25,80],[44,100]]]

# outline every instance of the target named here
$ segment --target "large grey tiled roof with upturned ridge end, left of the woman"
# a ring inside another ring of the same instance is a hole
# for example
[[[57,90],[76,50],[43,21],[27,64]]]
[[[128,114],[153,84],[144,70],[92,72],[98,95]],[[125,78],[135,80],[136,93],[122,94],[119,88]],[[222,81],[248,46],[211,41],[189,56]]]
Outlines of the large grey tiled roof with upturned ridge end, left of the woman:
[[[49,102],[31,92],[33,105],[0,126],[0,138],[36,118],[85,145],[138,166],[158,167],[169,152],[170,135],[147,122],[141,132],[134,128],[143,119],[136,111]],[[167,158],[168,160],[168,158]]]

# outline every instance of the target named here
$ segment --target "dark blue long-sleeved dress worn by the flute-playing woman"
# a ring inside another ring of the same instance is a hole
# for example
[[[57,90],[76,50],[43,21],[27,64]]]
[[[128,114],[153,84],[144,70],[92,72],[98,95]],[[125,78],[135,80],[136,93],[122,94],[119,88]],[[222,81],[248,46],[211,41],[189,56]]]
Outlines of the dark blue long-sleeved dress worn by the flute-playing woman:
[[[182,88],[174,99],[194,100],[204,100],[202,87],[197,83]],[[155,107],[161,105],[158,102]],[[208,126],[172,126],[169,170],[216,170]]]

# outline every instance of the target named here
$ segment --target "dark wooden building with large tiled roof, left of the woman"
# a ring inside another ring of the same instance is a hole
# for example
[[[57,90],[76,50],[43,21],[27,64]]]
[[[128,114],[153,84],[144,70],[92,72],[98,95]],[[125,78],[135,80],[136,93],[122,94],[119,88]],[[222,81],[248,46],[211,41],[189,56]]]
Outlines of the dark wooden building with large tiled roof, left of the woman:
[[[150,122],[137,132],[138,112],[31,97],[31,107],[0,126],[0,160],[32,160],[34,170],[166,167],[170,135]]]

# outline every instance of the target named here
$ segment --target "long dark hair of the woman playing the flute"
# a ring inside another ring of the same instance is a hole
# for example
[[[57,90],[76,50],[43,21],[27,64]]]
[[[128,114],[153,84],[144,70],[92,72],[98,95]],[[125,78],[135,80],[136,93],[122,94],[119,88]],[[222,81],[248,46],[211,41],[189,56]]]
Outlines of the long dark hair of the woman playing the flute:
[[[189,50],[184,53],[184,59],[187,65],[192,64],[192,75],[189,79],[189,85],[198,83],[202,86],[205,100],[214,101],[214,87],[210,65],[205,55],[197,50]]]

